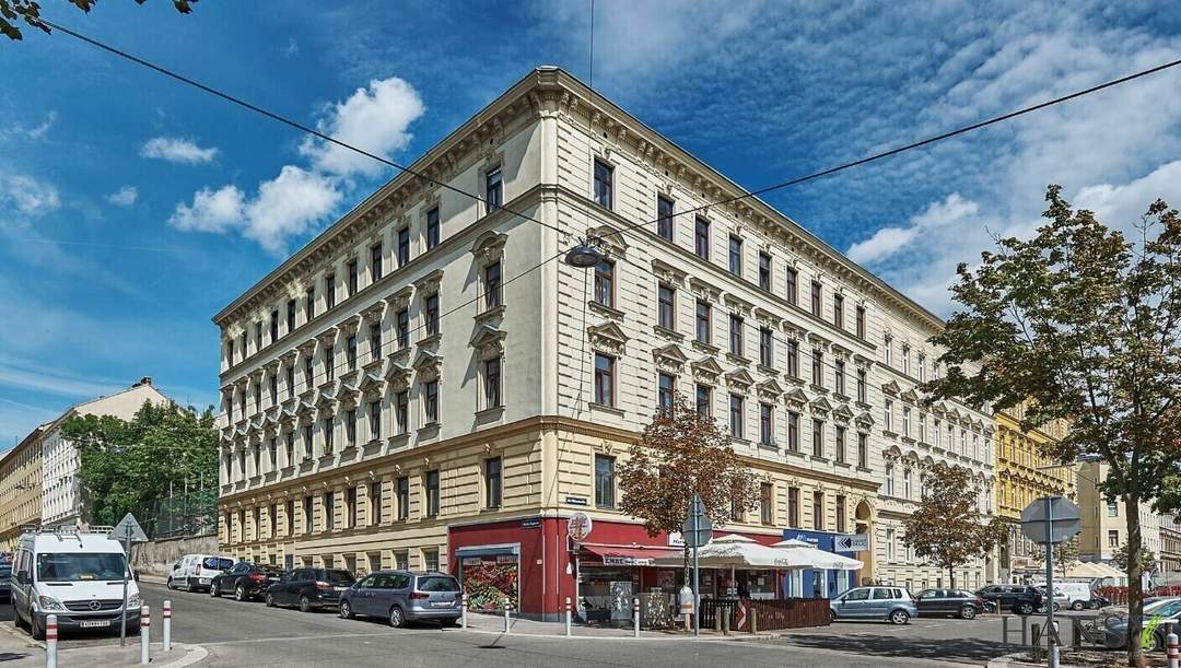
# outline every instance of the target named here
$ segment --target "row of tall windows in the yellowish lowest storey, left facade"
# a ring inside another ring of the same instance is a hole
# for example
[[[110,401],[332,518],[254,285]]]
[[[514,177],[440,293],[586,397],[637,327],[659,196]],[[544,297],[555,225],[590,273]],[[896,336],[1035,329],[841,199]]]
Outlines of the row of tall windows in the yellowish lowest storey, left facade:
[[[302,522],[300,523],[300,530],[304,533],[312,533],[315,531],[335,531],[342,529],[357,529],[361,526],[378,526],[384,524],[386,519],[383,517],[381,511],[381,499],[383,499],[383,485],[380,480],[368,484],[355,485],[346,487],[342,492],[344,507],[341,509],[342,523],[337,524],[337,499],[338,492],[329,491],[319,496],[320,506],[319,512],[315,507],[315,496],[305,496],[302,498],[300,507],[300,517]],[[439,515],[442,507],[442,496],[439,490],[439,471],[430,470],[422,476],[422,490],[423,490],[423,517],[433,518]],[[500,457],[490,457],[483,461],[483,506],[485,509],[495,510],[501,507],[502,503],[502,490],[503,490],[503,474],[502,474],[502,461]],[[364,503],[361,503],[360,496],[365,495]],[[286,536],[294,536],[296,532],[295,518],[296,518],[296,502],[294,499],[287,502],[286,512],[286,524],[283,526],[283,533],[280,533],[279,525],[279,504],[273,504],[267,512],[268,532],[266,536],[261,533],[265,524],[262,522],[262,509],[254,507],[252,511],[254,535],[247,536],[247,511],[237,511],[237,542],[244,542],[248,539],[263,539],[263,538],[279,538]],[[393,504],[392,504],[392,520],[393,522],[406,522],[410,519],[410,477],[402,476],[393,479]],[[226,515],[226,526],[227,526],[227,538],[229,542],[235,542],[234,533],[234,513]]]

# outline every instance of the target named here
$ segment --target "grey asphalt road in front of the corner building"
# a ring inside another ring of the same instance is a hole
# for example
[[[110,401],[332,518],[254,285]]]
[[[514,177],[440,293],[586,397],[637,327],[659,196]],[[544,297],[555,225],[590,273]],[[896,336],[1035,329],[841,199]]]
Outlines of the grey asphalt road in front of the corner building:
[[[839,622],[800,629],[762,642],[684,638],[527,637],[420,626],[392,629],[379,621],[350,621],[335,613],[304,614],[262,603],[214,600],[208,594],[168,591],[142,583],[152,610],[152,641],[159,640],[161,603],[172,601],[172,637],[209,651],[202,666],[694,666],[875,667],[981,666],[1006,653],[1000,621],[920,618],[905,627]],[[11,608],[0,607],[11,622]],[[65,635],[61,647],[118,642],[118,635]],[[131,638],[130,642],[138,642]]]

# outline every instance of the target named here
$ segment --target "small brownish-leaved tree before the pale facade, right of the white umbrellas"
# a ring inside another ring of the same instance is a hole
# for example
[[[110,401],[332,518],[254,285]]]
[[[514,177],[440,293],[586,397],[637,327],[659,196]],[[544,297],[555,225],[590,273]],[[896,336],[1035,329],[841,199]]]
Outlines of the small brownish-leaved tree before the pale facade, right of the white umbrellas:
[[[947,569],[952,589],[955,568],[984,558],[1007,531],[999,518],[980,515],[968,472],[944,464],[931,470],[927,491],[903,526],[902,542],[920,559]]]

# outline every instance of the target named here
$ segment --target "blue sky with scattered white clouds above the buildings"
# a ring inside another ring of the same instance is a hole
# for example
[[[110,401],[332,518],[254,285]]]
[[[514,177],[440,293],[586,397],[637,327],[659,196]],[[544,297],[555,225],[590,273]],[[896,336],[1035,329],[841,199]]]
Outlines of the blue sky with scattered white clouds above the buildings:
[[[530,67],[588,76],[580,0],[43,5],[403,163]],[[594,85],[753,189],[1175,59],[1168,9],[599,0]],[[0,71],[0,447],[142,375],[213,401],[210,316],[392,176],[64,34]],[[955,263],[1048,183],[1125,229],[1181,202],[1179,123],[1170,71],[768,199],[947,314]]]

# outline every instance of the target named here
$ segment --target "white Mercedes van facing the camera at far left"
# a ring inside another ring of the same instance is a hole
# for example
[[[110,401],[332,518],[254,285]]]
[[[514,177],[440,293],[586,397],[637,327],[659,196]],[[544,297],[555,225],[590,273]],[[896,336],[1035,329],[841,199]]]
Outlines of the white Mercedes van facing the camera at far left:
[[[139,587],[126,565],[123,545],[111,529],[73,526],[31,528],[21,535],[12,567],[13,621],[27,623],[37,640],[45,638],[45,617],[58,616],[58,628],[119,628],[126,615],[128,633],[139,633]],[[126,605],[123,577],[128,577]]]

